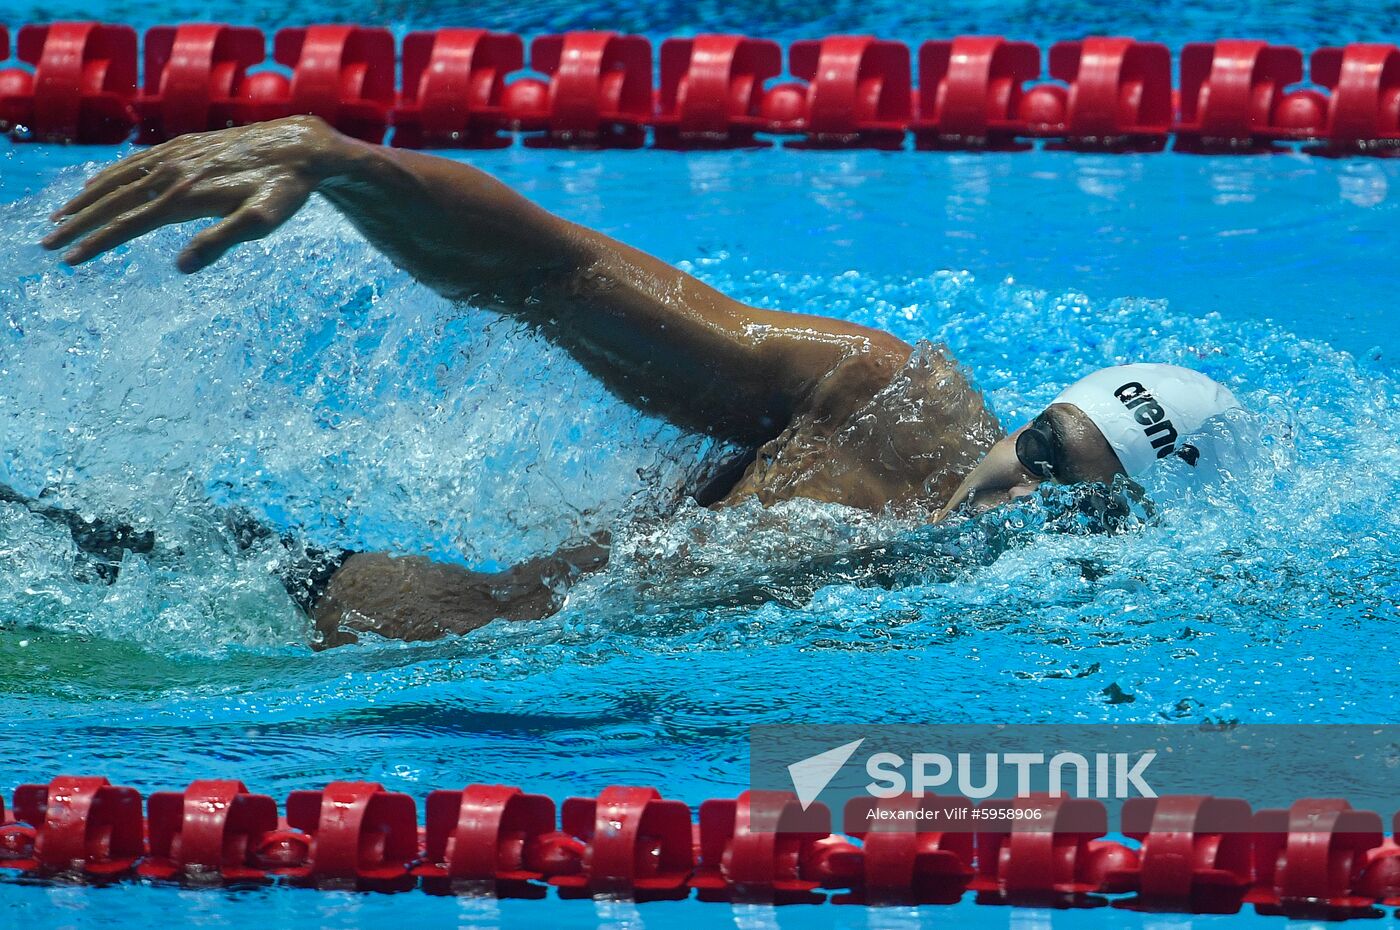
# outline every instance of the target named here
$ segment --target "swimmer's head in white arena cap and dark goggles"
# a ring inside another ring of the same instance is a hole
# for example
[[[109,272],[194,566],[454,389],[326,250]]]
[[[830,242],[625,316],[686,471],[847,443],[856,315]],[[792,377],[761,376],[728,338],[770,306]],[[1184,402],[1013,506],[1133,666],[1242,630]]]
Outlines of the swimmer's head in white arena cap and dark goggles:
[[[981,511],[1023,497],[1043,482],[1112,485],[1120,475],[1137,478],[1172,457],[1205,465],[1212,450],[1193,444],[1190,436],[1236,406],[1224,385],[1190,368],[1100,368],[993,445],[939,518],[965,503]]]

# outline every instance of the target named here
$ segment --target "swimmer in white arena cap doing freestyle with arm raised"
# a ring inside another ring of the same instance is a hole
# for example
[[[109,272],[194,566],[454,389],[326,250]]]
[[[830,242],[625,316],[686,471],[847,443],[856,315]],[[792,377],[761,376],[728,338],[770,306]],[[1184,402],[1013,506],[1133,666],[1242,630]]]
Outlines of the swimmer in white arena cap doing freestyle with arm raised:
[[[627,403],[746,450],[694,489],[706,506],[806,497],[941,521],[1044,482],[1112,485],[1166,457],[1197,465],[1208,452],[1190,434],[1236,406],[1203,374],[1133,364],[1088,374],[1007,434],[946,350],[745,305],[470,165],[356,141],[309,116],[130,155],[53,214],[43,245],[80,265],[160,227],[218,217],[176,258],[193,273],[276,230],[312,193],[440,294],[533,326]],[[606,536],[490,574],[333,553],[293,592],[322,644],[361,632],[420,640],[547,616],[606,560]]]

